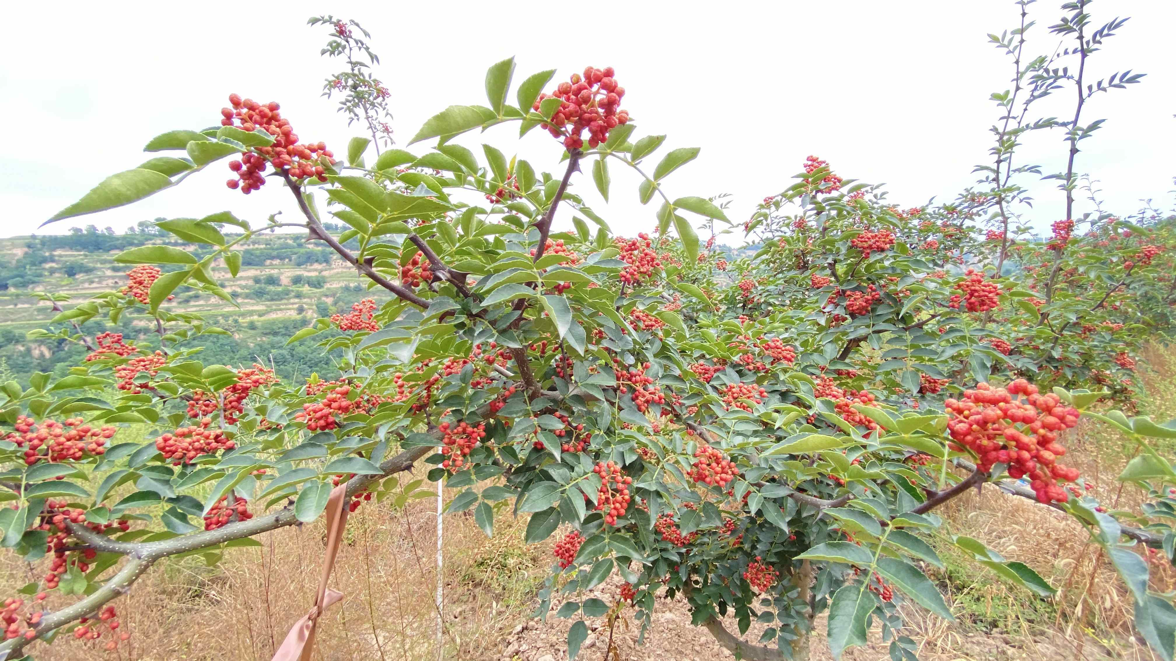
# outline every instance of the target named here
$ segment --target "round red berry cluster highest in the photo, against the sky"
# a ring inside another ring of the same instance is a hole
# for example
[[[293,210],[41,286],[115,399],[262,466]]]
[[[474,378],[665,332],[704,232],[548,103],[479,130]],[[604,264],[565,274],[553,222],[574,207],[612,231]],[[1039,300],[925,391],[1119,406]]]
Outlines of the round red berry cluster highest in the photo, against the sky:
[[[624,88],[613,78],[613,67],[584,68],[584,74],[572,74],[570,82],[561,82],[550,94],[540,94],[533,111],[539,111],[543,99],[560,99],[552,121],[543,122],[554,138],[563,140],[569,152],[584,146],[583,132],[588,129],[588,146],[595,148],[608,140],[609,129],[629,121],[629,112],[617,109]]]

